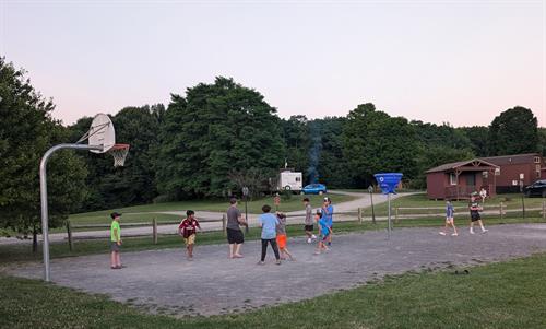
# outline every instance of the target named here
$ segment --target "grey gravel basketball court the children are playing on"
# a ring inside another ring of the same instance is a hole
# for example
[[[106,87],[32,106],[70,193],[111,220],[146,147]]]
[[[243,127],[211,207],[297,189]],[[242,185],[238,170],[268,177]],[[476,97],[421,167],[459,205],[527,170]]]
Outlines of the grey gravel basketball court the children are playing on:
[[[246,243],[242,259],[227,259],[226,245],[198,246],[187,261],[182,246],[123,252],[127,268],[110,270],[108,255],[55,259],[51,278],[60,285],[110,295],[152,313],[175,316],[214,315],[311,298],[366,281],[406,271],[476,265],[546,250],[546,224],[497,225],[487,234],[440,236],[437,228],[334,235],[332,249],[313,255],[302,238],[288,240],[296,261],[281,266],[269,250],[258,266],[258,242]],[[40,263],[24,265],[12,274],[40,278]],[[472,270],[468,279],[472,278]]]

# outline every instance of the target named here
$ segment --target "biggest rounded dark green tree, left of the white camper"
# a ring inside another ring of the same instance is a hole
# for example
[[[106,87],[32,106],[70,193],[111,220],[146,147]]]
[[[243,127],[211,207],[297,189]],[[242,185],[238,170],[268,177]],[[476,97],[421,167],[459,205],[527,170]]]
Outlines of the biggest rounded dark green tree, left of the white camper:
[[[223,196],[238,188],[230,173],[259,169],[275,177],[285,145],[276,109],[233,79],[173,95],[162,126],[159,191],[168,198]]]

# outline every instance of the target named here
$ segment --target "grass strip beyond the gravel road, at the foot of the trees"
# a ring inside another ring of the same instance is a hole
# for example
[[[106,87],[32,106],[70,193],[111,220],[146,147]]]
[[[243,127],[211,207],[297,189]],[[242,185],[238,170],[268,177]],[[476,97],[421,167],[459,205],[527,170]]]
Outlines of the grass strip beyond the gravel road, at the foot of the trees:
[[[309,198],[310,202],[314,207],[319,207],[322,204],[322,199],[324,196],[301,196],[294,195],[289,200],[281,200],[281,204],[278,207],[280,211],[296,211],[302,210],[302,199]],[[329,195],[329,198],[332,199],[332,202],[339,203],[344,201],[354,200],[355,197],[351,196],[341,196],[341,195]],[[258,199],[248,202],[248,211],[249,213],[261,213],[261,208],[263,204],[270,204],[274,208],[273,199]],[[229,203],[225,200],[214,201],[214,200],[193,200],[193,201],[180,201],[180,202],[166,202],[166,203],[154,203],[154,204],[144,204],[144,205],[133,205],[116,209],[118,212],[123,213],[123,221],[130,223],[140,223],[140,222],[152,222],[152,219],[156,218],[158,221],[171,221],[178,220],[180,216],[170,215],[170,214],[161,214],[158,212],[164,211],[186,211],[188,209],[192,209],[197,211],[197,215],[199,218],[199,211],[214,211],[214,212],[225,212]],[[239,203],[239,209],[245,211],[245,202]],[[87,213],[79,213],[72,214],[69,216],[69,220],[72,224],[109,224],[111,222],[109,214],[114,210],[103,210]],[[57,230],[59,231],[59,230]],[[63,228],[60,228],[63,231]]]

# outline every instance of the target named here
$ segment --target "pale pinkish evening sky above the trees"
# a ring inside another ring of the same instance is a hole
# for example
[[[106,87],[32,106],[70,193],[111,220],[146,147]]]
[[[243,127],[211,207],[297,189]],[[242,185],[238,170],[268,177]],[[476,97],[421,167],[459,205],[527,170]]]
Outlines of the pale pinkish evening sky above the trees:
[[[546,127],[546,0],[0,0],[0,56],[52,116],[163,103],[230,77],[278,115],[487,126],[514,106]]]

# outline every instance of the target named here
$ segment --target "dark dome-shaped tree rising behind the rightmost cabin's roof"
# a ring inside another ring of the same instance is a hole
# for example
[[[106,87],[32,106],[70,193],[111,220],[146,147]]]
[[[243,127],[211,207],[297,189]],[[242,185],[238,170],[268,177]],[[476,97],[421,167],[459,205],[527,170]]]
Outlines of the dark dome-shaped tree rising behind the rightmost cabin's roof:
[[[492,120],[488,140],[490,155],[537,152],[537,119],[525,107],[507,109]]]

